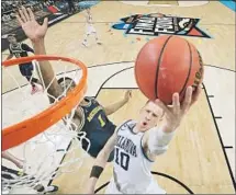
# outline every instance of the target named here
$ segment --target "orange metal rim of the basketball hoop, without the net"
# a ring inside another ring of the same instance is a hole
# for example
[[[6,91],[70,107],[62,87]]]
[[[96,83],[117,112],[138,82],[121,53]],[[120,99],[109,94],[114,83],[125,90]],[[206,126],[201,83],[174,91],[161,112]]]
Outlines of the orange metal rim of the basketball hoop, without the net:
[[[2,151],[15,147],[22,142],[27,141],[34,136],[41,134],[58,121],[60,121],[66,114],[68,114],[83,97],[87,91],[87,77],[88,70],[85,64],[79,60],[60,57],[60,56],[46,56],[37,55],[30,57],[22,57],[11,59],[2,62],[2,66],[9,67],[13,65],[24,64],[32,60],[63,60],[77,65],[82,70],[82,77],[80,82],[71,90],[67,96],[59,102],[50,105],[47,110],[40,114],[22,121],[15,125],[9,126],[2,130]]]

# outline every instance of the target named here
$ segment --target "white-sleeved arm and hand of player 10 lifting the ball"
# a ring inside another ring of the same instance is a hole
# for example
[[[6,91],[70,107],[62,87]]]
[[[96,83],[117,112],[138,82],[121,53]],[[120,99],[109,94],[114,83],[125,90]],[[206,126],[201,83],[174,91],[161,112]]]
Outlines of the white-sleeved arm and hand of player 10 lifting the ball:
[[[144,136],[143,147],[148,158],[154,160],[156,156],[161,154],[167,150],[168,145],[173,137],[173,133],[180,126],[180,123],[190,106],[198,101],[200,92],[200,85],[195,93],[192,92],[192,87],[189,87],[181,104],[179,102],[179,94],[175,93],[172,95],[171,106],[165,105],[160,100],[155,101],[155,103],[164,110],[166,122],[160,128],[151,128]]]

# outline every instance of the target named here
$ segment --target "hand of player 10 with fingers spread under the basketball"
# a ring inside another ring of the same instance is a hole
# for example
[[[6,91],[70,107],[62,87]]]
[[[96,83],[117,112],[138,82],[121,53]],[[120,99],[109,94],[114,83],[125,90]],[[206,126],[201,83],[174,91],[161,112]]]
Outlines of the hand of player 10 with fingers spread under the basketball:
[[[165,105],[160,100],[156,100],[155,103],[159,105],[166,113],[166,125],[170,131],[179,127],[183,116],[187,114],[193,103],[199,100],[201,93],[201,87],[199,85],[193,93],[192,87],[188,87],[186,90],[184,100],[180,104],[179,93],[173,93],[172,105]]]

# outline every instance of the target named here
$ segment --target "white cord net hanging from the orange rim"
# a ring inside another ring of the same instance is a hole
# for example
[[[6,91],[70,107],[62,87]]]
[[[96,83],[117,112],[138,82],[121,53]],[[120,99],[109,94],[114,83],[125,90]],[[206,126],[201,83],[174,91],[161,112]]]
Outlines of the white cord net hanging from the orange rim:
[[[53,65],[54,70],[57,72],[53,80],[60,78],[60,85],[63,87],[63,93],[59,97],[50,96],[55,100],[54,103],[56,103],[67,95],[68,90],[74,88],[75,83],[80,81],[82,72],[77,66],[61,60],[53,62]],[[47,93],[47,89],[50,85],[45,89],[37,61],[33,61],[33,76],[26,84],[21,82],[22,78],[16,72],[18,66],[3,67],[3,128],[31,118],[52,105],[48,100],[49,94]],[[42,85],[35,83],[36,90],[31,85],[33,78],[37,78],[42,82]],[[69,80],[68,78],[71,79]],[[33,94],[31,94],[31,90],[34,92]],[[22,160],[19,161],[22,162],[23,168],[18,169],[9,160],[3,159],[2,164],[4,169],[2,167],[1,173],[3,190],[11,190],[11,193],[21,193],[20,190],[22,188],[36,190],[41,185],[46,186],[56,176],[64,173],[68,174],[81,167],[83,159],[88,157],[86,151],[81,154],[81,142],[86,141],[88,144],[86,148],[88,151],[90,141],[86,138],[85,131],[79,131],[80,124],[75,119],[77,107],[78,105],[63,119],[42,134],[18,147],[7,150]],[[79,156],[78,151],[80,151]],[[16,173],[8,169],[15,170]],[[29,190],[25,192],[32,193]]]

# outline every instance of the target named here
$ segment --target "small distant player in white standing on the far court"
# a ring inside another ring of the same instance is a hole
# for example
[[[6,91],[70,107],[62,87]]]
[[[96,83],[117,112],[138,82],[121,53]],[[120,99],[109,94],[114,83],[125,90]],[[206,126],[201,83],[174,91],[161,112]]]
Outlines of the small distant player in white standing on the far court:
[[[89,46],[88,45],[88,36],[91,35],[91,34],[94,35],[97,44],[101,45],[101,42],[98,38],[97,31],[95,31],[95,28],[94,28],[94,26],[92,24],[92,15],[91,15],[91,12],[90,12],[90,8],[86,9],[86,13],[87,13],[86,14],[86,22],[87,22],[87,24],[86,24],[87,25],[86,26],[86,37],[85,37],[85,39],[82,42],[82,45],[86,46],[86,47]]]

